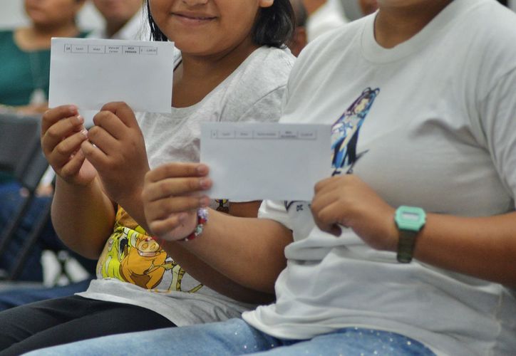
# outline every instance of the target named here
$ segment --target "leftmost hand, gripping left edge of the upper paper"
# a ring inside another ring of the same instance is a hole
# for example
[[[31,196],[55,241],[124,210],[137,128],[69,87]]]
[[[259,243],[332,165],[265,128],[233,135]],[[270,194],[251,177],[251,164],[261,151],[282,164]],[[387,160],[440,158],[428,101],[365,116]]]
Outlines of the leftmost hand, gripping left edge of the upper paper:
[[[70,184],[87,185],[97,175],[81,151],[88,139],[83,124],[73,105],[47,110],[41,120],[43,153],[56,174]]]

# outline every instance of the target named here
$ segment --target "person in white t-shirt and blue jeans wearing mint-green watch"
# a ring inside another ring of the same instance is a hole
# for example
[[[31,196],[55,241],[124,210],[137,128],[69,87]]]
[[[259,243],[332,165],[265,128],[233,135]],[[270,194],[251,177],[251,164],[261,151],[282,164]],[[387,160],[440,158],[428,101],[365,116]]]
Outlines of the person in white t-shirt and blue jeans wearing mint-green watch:
[[[334,169],[354,173],[319,182],[311,202],[290,209],[264,201],[263,219],[246,224],[212,214],[184,243],[210,266],[228,253],[233,268],[252,269],[247,235],[293,234],[277,301],[243,320],[47,355],[107,345],[138,355],[516,355],[516,14],[495,0],[378,5],[304,49],[282,115],[342,125],[364,90],[375,93],[360,131],[341,130],[360,158]],[[190,194],[210,186],[206,174],[177,163],[147,174],[151,231],[171,241],[191,233],[195,214],[175,218],[199,206]]]

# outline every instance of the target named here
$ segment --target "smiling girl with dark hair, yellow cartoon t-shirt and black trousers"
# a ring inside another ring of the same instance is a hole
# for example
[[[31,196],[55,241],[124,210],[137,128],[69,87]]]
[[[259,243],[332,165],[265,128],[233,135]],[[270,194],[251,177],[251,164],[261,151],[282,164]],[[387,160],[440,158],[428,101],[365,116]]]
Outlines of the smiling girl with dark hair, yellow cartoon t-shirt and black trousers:
[[[100,256],[98,280],[81,296],[1,313],[0,355],[225,320],[272,299],[288,239],[257,251],[264,265],[255,272],[257,283],[241,285],[180,243],[160,246],[150,238],[141,192],[149,167],[198,160],[200,122],[279,118],[294,59],[283,46],[294,26],[289,1],[150,0],[148,10],[154,38],[170,39],[181,51],[172,114],[137,120],[128,105],[108,103],[88,132],[73,105],[43,116],[43,151],[58,174],[53,224],[68,246]],[[210,205],[206,197],[198,199]],[[256,216],[258,204],[227,207],[232,215]]]

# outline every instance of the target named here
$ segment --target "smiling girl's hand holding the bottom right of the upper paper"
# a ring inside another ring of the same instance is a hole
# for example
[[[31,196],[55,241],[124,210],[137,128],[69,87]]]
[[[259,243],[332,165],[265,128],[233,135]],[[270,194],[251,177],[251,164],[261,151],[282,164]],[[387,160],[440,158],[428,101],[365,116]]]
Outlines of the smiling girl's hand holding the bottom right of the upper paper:
[[[143,134],[133,110],[108,103],[93,117],[94,127],[81,148],[97,169],[108,197],[117,203],[138,199],[149,170]]]

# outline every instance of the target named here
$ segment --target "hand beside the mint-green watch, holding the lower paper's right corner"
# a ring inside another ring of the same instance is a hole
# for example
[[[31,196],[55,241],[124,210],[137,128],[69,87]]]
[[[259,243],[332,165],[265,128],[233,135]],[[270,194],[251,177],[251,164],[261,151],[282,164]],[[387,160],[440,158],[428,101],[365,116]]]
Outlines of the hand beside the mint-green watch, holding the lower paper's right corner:
[[[353,229],[373,248],[397,249],[395,209],[353,174],[331,177],[317,183],[311,211],[322,231],[339,236],[340,224]]]

